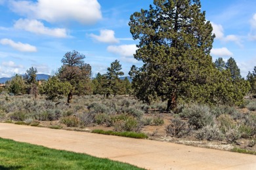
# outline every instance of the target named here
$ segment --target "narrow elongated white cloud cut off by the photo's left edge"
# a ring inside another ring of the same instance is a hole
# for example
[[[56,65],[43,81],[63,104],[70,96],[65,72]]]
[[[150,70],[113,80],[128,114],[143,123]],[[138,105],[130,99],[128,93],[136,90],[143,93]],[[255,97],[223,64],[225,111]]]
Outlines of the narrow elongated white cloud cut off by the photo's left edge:
[[[22,42],[14,42],[11,39],[1,39],[0,44],[9,45],[20,52],[37,52],[37,48],[30,44],[23,44]]]

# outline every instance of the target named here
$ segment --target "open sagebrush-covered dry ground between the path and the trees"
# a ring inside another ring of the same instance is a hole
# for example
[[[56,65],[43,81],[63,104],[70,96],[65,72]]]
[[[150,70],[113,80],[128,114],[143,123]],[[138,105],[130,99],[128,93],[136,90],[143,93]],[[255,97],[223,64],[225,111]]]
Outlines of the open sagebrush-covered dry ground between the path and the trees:
[[[246,100],[242,109],[184,104],[173,112],[165,112],[164,102],[145,105],[125,96],[74,96],[68,106],[64,99],[56,103],[43,96],[33,99],[31,95],[1,95],[0,104],[2,122],[78,131],[135,131],[158,141],[256,151],[254,100]]]

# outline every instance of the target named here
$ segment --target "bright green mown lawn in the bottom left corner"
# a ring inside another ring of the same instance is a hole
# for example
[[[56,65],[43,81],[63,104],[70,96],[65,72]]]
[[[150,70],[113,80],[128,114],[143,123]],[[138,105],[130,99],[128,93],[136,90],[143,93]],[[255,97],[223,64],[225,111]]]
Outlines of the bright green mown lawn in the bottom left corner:
[[[0,169],[139,169],[127,163],[0,138]]]

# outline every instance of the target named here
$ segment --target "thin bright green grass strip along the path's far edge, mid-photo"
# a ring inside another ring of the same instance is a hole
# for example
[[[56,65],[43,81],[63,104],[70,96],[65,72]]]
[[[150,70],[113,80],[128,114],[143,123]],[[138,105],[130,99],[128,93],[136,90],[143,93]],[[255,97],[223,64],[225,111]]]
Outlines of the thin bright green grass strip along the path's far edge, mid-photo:
[[[104,131],[101,129],[95,129],[92,133],[99,133],[103,135],[114,135],[119,137],[131,137],[136,139],[147,139],[148,136],[144,133],[136,133],[133,131]]]

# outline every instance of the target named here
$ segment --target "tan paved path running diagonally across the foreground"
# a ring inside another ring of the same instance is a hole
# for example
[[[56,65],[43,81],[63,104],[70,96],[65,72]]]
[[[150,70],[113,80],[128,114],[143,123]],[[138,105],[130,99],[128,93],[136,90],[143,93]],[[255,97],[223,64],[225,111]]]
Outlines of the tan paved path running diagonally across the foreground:
[[[123,161],[146,169],[256,169],[253,155],[144,139],[3,123],[0,123],[0,137]]]

